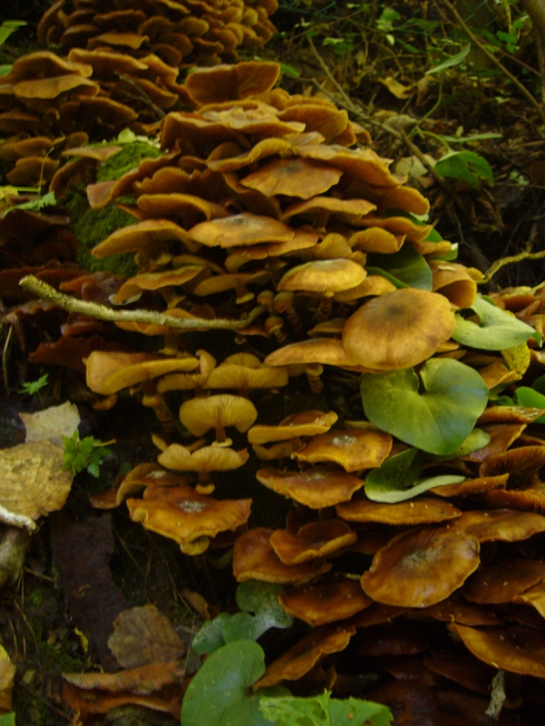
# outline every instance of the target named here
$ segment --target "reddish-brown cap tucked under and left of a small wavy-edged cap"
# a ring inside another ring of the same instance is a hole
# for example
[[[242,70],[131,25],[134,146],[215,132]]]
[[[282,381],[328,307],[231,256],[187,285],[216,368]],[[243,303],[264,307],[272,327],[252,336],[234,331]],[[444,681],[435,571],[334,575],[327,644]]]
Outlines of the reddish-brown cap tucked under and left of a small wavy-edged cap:
[[[238,537],[233,554],[233,574],[238,583],[246,580],[278,584],[306,583],[331,569],[332,565],[324,560],[283,564],[269,541],[272,531],[256,527]]]

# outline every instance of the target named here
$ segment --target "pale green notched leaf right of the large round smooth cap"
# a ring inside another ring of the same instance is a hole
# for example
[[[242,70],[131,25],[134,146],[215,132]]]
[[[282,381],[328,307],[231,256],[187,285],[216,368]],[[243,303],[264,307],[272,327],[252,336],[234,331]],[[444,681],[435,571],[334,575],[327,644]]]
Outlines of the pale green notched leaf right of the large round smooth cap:
[[[464,346],[483,350],[504,350],[526,342],[535,332],[530,325],[514,315],[497,308],[492,302],[477,295],[471,305],[481,322],[475,323],[456,314],[456,328],[452,338]]]

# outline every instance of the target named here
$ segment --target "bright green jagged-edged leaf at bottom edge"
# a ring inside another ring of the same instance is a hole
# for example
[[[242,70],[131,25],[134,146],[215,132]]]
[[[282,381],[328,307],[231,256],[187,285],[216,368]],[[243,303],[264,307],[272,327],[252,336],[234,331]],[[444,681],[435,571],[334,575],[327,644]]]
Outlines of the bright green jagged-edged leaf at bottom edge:
[[[329,691],[310,698],[265,696],[260,708],[276,726],[390,726],[393,718],[380,703],[332,699]]]

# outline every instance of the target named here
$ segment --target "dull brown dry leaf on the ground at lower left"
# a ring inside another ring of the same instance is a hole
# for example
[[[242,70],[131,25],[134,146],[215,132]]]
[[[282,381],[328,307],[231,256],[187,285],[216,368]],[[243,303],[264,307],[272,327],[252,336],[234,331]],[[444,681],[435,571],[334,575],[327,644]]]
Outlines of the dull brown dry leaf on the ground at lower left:
[[[114,620],[110,650],[124,668],[180,661],[186,651],[170,620],[155,605],[133,607]]]

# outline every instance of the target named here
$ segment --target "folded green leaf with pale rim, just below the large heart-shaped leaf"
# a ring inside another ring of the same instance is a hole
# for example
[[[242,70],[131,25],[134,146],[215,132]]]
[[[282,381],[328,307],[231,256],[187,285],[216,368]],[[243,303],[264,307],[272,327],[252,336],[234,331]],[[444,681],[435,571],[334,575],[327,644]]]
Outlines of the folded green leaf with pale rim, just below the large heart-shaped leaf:
[[[419,479],[422,460],[421,451],[416,448],[401,451],[401,454],[386,459],[365,477],[365,495],[373,502],[395,504],[412,499],[433,486],[459,484],[465,479],[465,476],[454,475]]]

